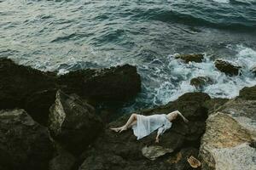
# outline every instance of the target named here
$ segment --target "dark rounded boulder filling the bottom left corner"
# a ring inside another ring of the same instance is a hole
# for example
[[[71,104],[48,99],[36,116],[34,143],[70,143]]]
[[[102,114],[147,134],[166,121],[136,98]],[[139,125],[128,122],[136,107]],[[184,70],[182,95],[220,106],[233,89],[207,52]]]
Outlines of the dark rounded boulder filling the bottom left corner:
[[[4,170],[45,170],[53,146],[46,127],[24,110],[0,111],[0,167]]]

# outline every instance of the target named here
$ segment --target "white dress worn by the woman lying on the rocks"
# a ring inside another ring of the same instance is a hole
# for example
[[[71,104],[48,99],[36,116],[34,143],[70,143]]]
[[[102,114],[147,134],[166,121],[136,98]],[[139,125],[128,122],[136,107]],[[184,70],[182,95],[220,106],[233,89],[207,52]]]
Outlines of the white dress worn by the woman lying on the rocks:
[[[133,133],[137,139],[142,139],[158,129],[157,133],[164,133],[172,127],[172,122],[167,119],[166,114],[151,116],[137,115],[137,123],[132,126]]]

